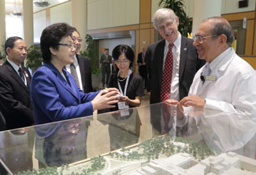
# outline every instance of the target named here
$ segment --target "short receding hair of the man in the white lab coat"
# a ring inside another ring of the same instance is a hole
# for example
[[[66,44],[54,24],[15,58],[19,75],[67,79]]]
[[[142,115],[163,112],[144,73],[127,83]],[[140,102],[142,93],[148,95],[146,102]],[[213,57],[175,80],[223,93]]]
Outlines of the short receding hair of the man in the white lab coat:
[[[220,16],[210,17],[210,18],[207,18],[206,20],[214,20],[214,23],[210,28],[211,35],[216,35],[216,36],[219,36],[222,34],[226,35],[227,45],[231,46],[234,40],[234,34],[233,34],[233,29],[231,25],[228,23],[228,20]]]

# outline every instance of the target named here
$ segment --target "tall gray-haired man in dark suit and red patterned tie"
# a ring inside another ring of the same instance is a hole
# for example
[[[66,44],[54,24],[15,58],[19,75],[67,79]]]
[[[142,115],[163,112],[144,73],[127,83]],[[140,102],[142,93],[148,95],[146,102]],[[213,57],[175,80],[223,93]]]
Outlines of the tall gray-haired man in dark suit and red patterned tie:
[[[172,9],[158,9],[154,13],[153,24],[163,39],[147,47],[150,104],[168,99],[177,103],[187,96],[196,71],[205,62],[198,59],[193,40],[180,35],[179,19]],[[169,57],[172,60],[166,63]],[[166,70],[165,64],[169,64]],[[164,78],[165,75],[169,80]]]

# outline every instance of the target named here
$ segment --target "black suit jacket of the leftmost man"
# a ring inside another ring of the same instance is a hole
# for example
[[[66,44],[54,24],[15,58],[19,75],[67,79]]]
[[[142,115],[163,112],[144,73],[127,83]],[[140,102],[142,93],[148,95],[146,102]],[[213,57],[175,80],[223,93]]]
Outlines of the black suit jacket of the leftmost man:
[[[0,111],[6,119],[6,129],[31,126],[34,122],[29,93],[31,75],[26,67],[22,68],[28,75],[28,87],[8,61],[0,67]]]

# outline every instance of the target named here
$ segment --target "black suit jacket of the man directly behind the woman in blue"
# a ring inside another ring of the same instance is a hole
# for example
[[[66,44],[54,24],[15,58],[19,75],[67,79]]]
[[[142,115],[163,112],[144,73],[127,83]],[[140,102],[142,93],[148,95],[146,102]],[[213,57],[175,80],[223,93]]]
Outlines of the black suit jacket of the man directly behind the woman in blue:
[[[92,92],[90,60],[86,57],[77,54],[76,58],[78,60],[78,64],[80,67],[81,79],[83,84],[83,93],[90,93]]]

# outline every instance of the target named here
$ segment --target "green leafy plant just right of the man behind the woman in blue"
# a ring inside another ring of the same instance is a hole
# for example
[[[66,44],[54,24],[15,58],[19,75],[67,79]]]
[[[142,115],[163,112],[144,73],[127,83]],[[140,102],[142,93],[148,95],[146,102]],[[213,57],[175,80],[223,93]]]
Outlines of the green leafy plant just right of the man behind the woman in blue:
[[[93,41],[93,38],[91,38],[91,35],[86,35],[85,40],[87,44],[87,49],[85,51],[80,51],[80,54],[83,57],[89,58],[91,64],[92,87],[94,89],[98,89],[98,86],[100,84],[101,69],[98,65],[98,57],[95,49],[95,42]]]

